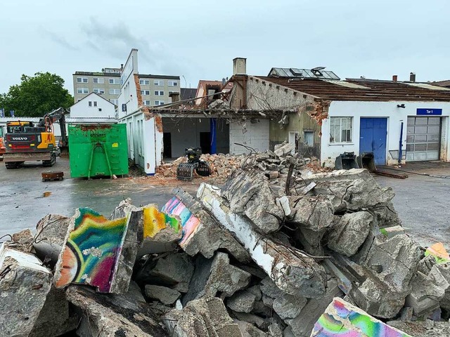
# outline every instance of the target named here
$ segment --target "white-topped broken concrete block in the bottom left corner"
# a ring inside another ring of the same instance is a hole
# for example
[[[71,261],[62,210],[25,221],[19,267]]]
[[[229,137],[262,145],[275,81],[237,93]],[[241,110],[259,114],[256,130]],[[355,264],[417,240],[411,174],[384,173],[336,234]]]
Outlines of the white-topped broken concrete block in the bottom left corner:
[[[0,331],[29,336],[51,289],[51,272],[30,253],[0,246]]]

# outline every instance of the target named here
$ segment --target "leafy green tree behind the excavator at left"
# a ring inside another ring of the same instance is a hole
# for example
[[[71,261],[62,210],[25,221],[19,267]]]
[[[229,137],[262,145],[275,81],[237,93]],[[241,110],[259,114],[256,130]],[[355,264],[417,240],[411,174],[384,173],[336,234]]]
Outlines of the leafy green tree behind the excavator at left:
[[[32,77],[23,74],[20,84],[0,94],[0,109],[5,108],[6,116],[14,110],[15,116],[42,117],[58,107],[67,109],[73,102],[63,78],[49,72],[37,72]]]

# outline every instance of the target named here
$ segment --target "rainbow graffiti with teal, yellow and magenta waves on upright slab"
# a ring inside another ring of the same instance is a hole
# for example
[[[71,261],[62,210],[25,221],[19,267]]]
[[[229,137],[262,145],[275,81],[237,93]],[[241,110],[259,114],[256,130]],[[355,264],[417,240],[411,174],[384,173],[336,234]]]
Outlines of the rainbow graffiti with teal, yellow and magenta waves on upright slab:
[[[87,208],[78,212],[56,265],[55,285],[89,284],[108,293],[127,232],[127,218],[108,220]]]

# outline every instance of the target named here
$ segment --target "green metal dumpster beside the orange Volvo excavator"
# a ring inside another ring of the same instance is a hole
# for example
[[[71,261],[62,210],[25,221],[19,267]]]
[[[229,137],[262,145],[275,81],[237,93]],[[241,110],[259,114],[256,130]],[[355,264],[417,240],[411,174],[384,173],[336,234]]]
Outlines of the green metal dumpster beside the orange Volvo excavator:
[[[128,174],[127,126],[70,125],[70,176],[122,176]]]

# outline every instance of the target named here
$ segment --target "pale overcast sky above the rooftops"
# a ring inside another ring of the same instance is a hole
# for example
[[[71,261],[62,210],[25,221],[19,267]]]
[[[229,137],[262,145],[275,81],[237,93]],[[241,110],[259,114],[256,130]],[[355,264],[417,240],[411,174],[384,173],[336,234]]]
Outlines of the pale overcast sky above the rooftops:
[[[326,66],[339,77],[450,79],[449,0],[0,0],[0,93],[20,75],[120,67],[199,79]],[[184,79],[181,78],[181,86]]]

